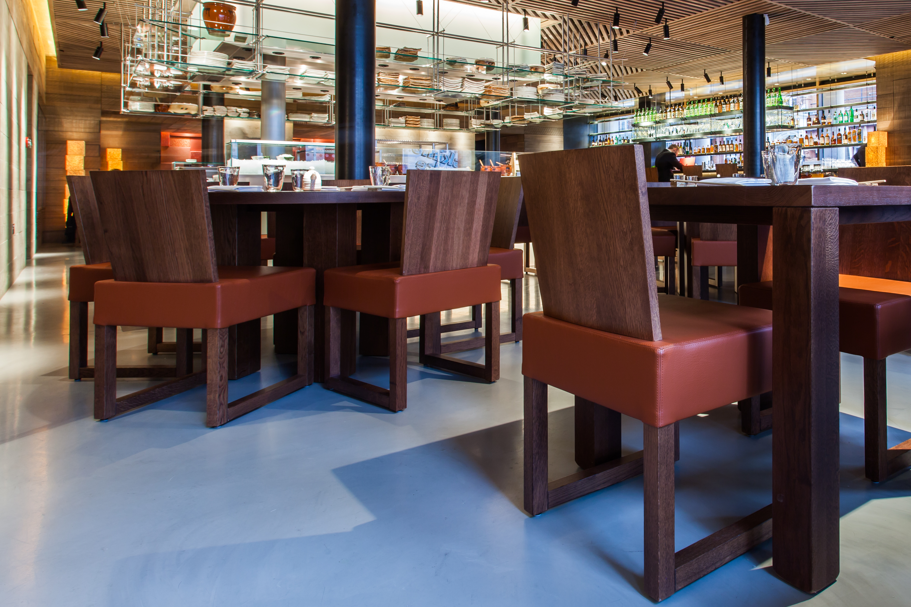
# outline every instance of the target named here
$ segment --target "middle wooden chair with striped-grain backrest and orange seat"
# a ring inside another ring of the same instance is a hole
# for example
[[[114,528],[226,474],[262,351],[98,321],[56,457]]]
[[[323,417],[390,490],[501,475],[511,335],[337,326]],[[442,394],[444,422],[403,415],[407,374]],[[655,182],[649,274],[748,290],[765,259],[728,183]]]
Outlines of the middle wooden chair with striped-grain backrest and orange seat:
[[[389,410],[404,410],[407,319],[421,317],[421,364],[486,381],[499,379],[500,268],[487,264],[499,173],[409,170],[402,261],[327,269],[326,387]],[[483,365],[445,356],[440,311],[485,305]],[[342,365],[343,310],[389,320],[389,389],[348,377]]]

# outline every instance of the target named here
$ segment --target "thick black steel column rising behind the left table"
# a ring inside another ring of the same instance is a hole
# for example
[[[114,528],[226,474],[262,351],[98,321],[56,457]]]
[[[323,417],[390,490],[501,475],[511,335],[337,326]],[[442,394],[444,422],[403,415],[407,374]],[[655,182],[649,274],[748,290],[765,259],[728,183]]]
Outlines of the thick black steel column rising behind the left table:
[[[336,179],[366,179],[374,164],[375,26],[375,0],[336,1]]]

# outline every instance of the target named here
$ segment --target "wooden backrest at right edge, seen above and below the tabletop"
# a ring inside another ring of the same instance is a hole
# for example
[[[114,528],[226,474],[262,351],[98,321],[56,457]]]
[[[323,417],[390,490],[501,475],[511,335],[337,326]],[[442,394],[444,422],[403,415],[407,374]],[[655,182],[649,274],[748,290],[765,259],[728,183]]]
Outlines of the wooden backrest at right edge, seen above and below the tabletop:
[[[911,167],[845,167],[838,169],[838,177],[911,186]],[[911,221],[840,226],[838,272],[911,281]]]

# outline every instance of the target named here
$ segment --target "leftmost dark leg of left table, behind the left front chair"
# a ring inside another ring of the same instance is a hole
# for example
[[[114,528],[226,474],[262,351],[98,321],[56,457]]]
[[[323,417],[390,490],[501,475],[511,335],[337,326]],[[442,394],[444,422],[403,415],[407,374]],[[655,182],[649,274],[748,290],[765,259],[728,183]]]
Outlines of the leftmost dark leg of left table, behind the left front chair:
[[[215,256],[220,266],[259,266],[261,215],[237,205],[210,207]],[[260,319],[228,330],[228,379],[240,379],[260,370]]]

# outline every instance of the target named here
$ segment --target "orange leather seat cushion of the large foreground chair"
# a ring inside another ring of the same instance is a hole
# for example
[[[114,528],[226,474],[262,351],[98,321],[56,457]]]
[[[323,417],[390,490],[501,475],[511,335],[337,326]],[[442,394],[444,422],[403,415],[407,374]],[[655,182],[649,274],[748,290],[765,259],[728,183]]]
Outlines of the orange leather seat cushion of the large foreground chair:
[[[522,374],[658,428],[772,389],[772,312],[658,302],[660,341],[526,314]]]

